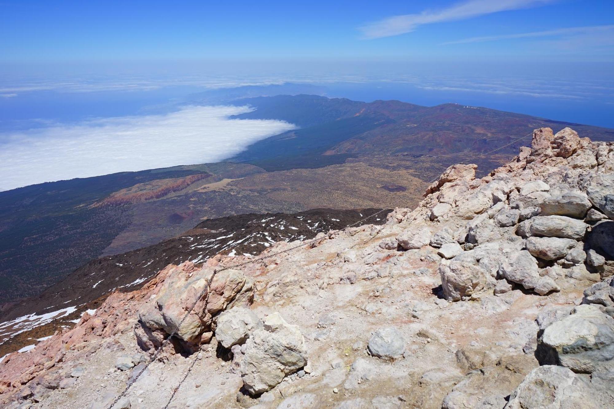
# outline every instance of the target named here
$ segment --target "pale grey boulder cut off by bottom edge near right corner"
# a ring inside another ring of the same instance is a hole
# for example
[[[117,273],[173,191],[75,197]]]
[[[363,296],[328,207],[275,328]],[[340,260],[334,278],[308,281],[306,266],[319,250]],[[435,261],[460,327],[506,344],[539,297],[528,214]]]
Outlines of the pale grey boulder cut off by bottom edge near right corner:
[[[590,398],[589,398],[590,397]],[[525,376],[505,409],[597,409],[593,388],[567,368],[543,365]]]

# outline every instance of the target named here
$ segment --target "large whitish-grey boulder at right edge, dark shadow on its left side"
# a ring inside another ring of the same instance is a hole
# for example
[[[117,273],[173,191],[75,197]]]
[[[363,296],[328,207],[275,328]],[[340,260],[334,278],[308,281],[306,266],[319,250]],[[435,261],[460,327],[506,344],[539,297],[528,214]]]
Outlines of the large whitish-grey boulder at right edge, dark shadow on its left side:
[[[572,314],[546,327],[537,356],[542,364],[579,373],[614,368],[614,318],[597,305],[578,305]]]

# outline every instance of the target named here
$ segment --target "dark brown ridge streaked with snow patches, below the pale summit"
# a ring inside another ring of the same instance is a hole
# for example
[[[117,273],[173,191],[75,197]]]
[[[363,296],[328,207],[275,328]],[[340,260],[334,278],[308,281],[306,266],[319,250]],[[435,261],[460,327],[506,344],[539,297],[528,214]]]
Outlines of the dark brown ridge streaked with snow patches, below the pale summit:
[[[219,253],[256,256],[271,243],[308,240],[317,233],[344,228],[378,211],[313,209],[295,214],[250,213],[209,219],[153,246],[91,260],[39,296],[3,311],[2,321],[21,318],[14,324],[1,325],[0,356],[50,335],[62,325],[72,325],[83,311],[97,308],[114,290],[134,290],[169,263],[178,265],[187,260],[204,263]],[[383,224],[387,212],[357,225]],[[58,313],[54,319],[53,311],[66,308],[69,310]],[[23,318],[29,314],[33,315]]]

